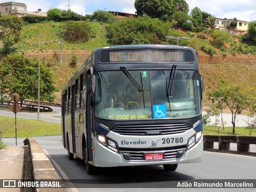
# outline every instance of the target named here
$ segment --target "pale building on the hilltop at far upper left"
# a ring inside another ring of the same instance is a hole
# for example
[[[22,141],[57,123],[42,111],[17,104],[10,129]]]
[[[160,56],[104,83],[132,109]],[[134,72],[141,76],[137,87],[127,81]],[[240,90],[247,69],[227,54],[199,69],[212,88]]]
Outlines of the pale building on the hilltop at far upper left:
[[[43,12],[42,9],[38,9],[35,12],[27,11],[27,6],[24,3],[18,2],[6,2],[0,3],[0,14],[3,15],[16,15],[16,16],[25,16],[25,15],[37,15],[37,16],[47,16],[46,12]]]

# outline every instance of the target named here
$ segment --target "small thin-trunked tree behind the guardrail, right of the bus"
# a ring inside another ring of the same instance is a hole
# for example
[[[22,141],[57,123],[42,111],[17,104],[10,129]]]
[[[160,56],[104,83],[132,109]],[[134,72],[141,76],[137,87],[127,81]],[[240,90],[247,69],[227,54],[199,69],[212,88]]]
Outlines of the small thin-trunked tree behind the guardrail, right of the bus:
[[[223,86],[219,85],[217,90],[209,93],[209,98],[213,103],[223,103],[222,106],[227,106],[232,114],[233,134],[236,127],[236,116],[241,114],[245,109],[251,108],[255,103],[255,98],[252,95],[253,88],[244,88],[241,85]],[[223,108],[224,109],[224,108]]]

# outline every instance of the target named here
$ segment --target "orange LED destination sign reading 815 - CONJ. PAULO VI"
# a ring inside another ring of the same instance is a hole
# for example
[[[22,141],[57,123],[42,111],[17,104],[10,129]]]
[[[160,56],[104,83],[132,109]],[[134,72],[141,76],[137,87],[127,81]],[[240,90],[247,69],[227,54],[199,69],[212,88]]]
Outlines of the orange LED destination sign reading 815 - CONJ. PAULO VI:
[[[170,49],[104,50],[100,54],[100,63],[124,62],[194,62],[194,57],[189,50]]]

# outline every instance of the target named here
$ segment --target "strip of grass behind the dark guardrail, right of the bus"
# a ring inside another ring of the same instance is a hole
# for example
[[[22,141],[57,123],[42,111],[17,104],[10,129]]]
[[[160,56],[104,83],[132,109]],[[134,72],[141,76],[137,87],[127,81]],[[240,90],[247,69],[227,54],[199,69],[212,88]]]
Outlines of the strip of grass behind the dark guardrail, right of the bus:
[[[236,127],[235,134],[232,134],[233,127],[220,127],[219,135],[241,135],[249,136],[250,129],[245,127]],[[203,128],[204,135],[218,135],[218,127],[214,126],[204,126]],[[252,136],[256,136],[256,129],[252,130]]]

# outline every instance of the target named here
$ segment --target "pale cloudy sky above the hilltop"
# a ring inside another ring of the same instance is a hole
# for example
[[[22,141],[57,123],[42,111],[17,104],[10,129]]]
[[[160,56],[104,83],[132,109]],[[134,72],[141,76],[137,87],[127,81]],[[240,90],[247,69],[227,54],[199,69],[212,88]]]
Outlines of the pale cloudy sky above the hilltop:
[[[10,0],[0,0],[0,3]],[[134,14],[135,0],[13,0],[25,3],[27,11],[38,9],[47,12],[50,8],[68,9],[78,14],[92,14],[98,10],[117,11]],[[195,7],[214,15],[216,18],[237,18],[243,21],[256,20],[255,0],[186,0],[189,9]]]

